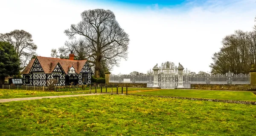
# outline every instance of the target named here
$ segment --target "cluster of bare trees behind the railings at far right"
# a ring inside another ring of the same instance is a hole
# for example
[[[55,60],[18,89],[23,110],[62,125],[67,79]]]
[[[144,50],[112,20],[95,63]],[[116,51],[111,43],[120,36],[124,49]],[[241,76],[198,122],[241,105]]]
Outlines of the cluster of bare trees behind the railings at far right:
[[[256,22],[256,18],[255,18]],[[225,36],[220,51],[212,56],[210,64],[213,74],[248,74],[251,66],[256,64],[256,25],[252,31],[236,30]]]

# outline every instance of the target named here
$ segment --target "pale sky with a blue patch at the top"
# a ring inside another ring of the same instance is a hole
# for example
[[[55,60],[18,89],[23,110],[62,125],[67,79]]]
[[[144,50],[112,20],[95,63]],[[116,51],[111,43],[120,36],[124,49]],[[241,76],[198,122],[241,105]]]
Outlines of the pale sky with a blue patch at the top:
[[[32,34],[38,56],[69,40],[64,30],[81,21],[85,10],[113,11],[128,33],[128,59],[113,74],[146,73],[166,61],[191,72],[210,72],[212,55],[224,36],[252,31],[256,0],[0,0],[0,33]]]

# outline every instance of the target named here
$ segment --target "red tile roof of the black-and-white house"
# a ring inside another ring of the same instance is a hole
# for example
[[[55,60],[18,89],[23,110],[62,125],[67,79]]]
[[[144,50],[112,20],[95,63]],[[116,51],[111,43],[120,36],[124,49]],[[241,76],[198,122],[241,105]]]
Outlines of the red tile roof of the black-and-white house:
[[[41,64],[41,67],[44,69],[44,73],[50,74],[52,73],[53,69],[57,66],[59,63],[64,70],[64,72],[67,74],[69,68],[73,66],[75,68],[76,73],[80,73],[81,69],[84,67],[84,64],[87,60],[69,60],[69,59],[61,59],[61,58],[49,58],[49,57],[36,57]],[[21,72],[21,74],[29,74],[30,69],[32,68],[32,65],[34,63],[35,59],[29,62],[28,66]]]

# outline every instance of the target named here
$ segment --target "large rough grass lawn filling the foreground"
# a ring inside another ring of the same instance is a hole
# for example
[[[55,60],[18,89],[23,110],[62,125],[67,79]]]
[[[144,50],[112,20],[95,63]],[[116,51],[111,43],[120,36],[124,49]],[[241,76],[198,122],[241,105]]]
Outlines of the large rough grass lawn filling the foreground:
[[[131,95],[0,103],[0,135],[253,136],[256,105]]]

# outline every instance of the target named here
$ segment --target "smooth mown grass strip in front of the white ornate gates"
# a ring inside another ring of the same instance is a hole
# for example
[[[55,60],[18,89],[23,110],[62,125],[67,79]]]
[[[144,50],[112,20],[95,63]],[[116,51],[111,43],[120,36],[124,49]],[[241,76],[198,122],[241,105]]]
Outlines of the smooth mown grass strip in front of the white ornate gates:
[[[173,97],[194,97],[223,100],[256,101],[253,92],[245,91],[210,91],[210,90],[184,90],[184,89],[158,89],[157,91],[135,92],[134,94],[162,95]]]

